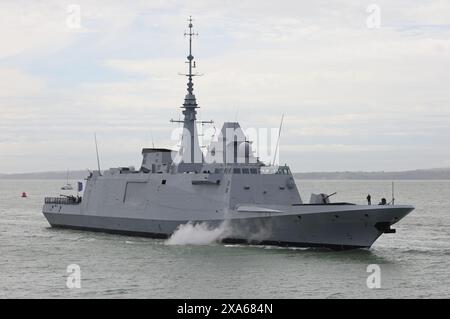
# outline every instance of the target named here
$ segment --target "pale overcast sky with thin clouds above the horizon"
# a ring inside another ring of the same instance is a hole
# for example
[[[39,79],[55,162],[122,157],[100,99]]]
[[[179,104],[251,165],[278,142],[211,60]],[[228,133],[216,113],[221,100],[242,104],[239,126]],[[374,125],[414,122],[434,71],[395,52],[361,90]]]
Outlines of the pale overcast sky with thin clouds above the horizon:
[[[200,119],[285,113],[295,171],[450,166],[450,1],[4,0],[0,172],[95,167],[94,132],[103,167],[172,146],[189,15]]]

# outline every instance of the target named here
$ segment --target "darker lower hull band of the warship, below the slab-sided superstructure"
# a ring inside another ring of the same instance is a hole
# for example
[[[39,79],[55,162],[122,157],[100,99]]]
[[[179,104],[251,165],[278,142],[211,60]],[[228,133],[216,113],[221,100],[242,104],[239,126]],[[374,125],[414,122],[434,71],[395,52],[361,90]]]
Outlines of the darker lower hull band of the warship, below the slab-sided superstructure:
[[[305,205],[299,210],[302,208],[309,212],[194,221],[68,212],[44,212],[44,215],[52,227],[168,238],[180,225],[193,222],[224,228],[220,240],[225,243],[349,249],[370,247],[380,235],[392,232],[390,226],[413,209],[410,206]],[[331,211],[321,212],[330,208]]]

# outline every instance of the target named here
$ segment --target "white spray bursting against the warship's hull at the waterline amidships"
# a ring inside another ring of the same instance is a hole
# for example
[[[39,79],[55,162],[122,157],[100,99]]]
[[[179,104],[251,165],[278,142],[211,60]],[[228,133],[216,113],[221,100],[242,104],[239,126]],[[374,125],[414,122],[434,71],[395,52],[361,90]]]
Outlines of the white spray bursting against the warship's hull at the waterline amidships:
[[[178,226],[166,241],[167,245],[209,245],[220,242],[229,233],[229,223],[222,222],[219,226],[211,227],[207,223],[188,222]]]

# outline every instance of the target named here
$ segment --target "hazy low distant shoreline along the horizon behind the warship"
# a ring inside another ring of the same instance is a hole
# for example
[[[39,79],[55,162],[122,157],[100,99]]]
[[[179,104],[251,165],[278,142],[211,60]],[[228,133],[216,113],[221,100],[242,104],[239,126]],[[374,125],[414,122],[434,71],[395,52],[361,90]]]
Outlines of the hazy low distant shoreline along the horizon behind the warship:
[[[69,171],[70,180],[82,180],[88,170]],[[450,180],[450,168],[417,169],[398,172],[304,172],[294,173],[296,179],[310,180]],[[61,179],[67,178],[67,171],[0,174],[0,179]]]

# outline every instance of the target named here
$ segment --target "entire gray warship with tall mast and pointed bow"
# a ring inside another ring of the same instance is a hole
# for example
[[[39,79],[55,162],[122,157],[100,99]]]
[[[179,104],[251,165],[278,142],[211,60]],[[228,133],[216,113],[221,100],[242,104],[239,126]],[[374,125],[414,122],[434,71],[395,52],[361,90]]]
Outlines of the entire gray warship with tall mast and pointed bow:
[[[144,148],[142,165],[90,173],[83,196],[47,197],[52,227],[169,238],[186,224],[221,227],[219,241],[279,246],[369,248],[414,207],[331,202],[300,197],[287,165],[264,163],[237,122],[225,122],[205,152],[199,144],[189,19],[187,94],[177,150]],[[98,160],[98,150],[97,150]]]

